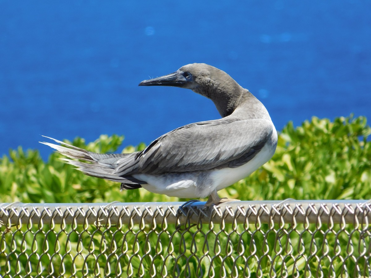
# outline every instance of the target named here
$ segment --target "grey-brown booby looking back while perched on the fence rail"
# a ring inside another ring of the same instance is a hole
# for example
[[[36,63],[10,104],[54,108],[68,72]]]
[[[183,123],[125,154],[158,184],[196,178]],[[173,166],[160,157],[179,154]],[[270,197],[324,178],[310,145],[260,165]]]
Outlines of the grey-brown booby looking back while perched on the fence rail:
[[[86,175],[120,182],[121,191],[209,197],[206,206],[236,200],[220,198],[217,191],[246,178],[275,153],[278,135],[267,109],[223,70],[192,63],[139,86],[191,89],[209,98],[221,118],[181,126],[133,153],[94,153],[47,136],[58,145],[40,143]]]

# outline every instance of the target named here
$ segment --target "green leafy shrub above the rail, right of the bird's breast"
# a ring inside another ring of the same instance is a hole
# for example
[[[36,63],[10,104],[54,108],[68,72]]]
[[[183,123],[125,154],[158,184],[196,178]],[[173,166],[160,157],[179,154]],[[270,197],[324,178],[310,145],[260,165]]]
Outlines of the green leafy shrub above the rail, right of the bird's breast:
[[[371,199],[370,134],[364,117],[290,122],[273,158],[229,192],[251,200]]]

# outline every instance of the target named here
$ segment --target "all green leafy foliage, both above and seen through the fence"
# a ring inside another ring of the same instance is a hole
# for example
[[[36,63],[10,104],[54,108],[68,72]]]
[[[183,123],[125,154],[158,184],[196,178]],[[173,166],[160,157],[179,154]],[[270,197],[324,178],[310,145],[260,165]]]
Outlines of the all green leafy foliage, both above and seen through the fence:
[[[371,128],[367,125],[366,118],[358,117],[354,118],[352,115],[350,117],[336,118],[334,122],[328,119],[318,119],[313,117],[311,121],[305,121],[301,126],[294,128],[292,123],[283,128],[279,133],[278,146],[273,158],[263,165],[260,169],[254,172],[249,177],[243,179],[236,184],[223,189],[219,192],[220,196],[229,196],[232,198],[239,198],[242,200],[283,200],[286,198],[294,199],[371,199],[371,142],[368,140],[371,134]],[[115,152],[122,143],[124,139],[123,136],[118,135],[101,135],[95,142],[86,144],[84,139],[76,138],[72,143],[80,148],[85,148],[91,150],[92,152]],[[139,144],[136,147],[127,146],[122,150],[123,152],[133,152],[135,150],[141,150],[145,148],[144,144]],[[73,169],[71,165],[62,163],[61,155],[58,153],[52,153],[47,162],[44,162],[39,155],[37,150],[27,150],[24,151],[21,147],[17,150],[10,150],[9,156],[4,155],[0,159],[0,201],[4,203],[11,202],[31,202],[31,203],[86,203],[86,202],[165,202],[165,201],[179,201],[177,198],[167,197],[164,195],[154,194],[144,189],[139,190],[128,190],[124,192],[119,192],[119,184],[105,181],[103,179],[93,178],[90,176],[83,175],[81,172]],[[180,200],[180,201],[186,201]],[[227,224],[225,230],[232,230],[232,224]],[[303,242],[305,246],[302,246],[305,250],[310,250],[311,247],[311,232],[318,231],[316,224],[310,224],[306,226],[305,229],[308,231],[303,232]],[[37,229],[35,225],[35,229]],[[71,225],[63,228],[64,232],[70,232],[72,229]],[[264,226],[264,227],[263,227]],[[268,229],[267,224],[263,224],[262,230]],[[243,232],[241,225],[237,227],[239,232]],[[255,227],[256,228],[256,227]],[[255,229],[250,225],[249,229],[253,231]],[[286,227],[289,229],[289,226]],[[326,225],[324,225],[326,229]],[[46,225],[46,228],[47,225]],[[58,232],[60,228],[55,227],[54,233]],[[112,228],[114,229],[114,227]],[[134,232],[140,230],[139,227],[132,227],[132,234],[128,236],[128,241],[132,242],[135,237]],[[158,228],[158,232],[161,232],[161,226]],[[190,227],[189,232],[175,232],[175,226],[169,226],[167,228],[167,233],[173,234],[174,237],[171,239],[175,246],[179,247],[174,252],[184,252],[184,257],[182,257],[178,262],[181,272],[186,275],[187,269],[185,269],[186,261],[190,260],[191,265],[198,265],[196,257],[192,257],[191,250],[182,250],[181,236],[184,236],[184,241],[191,242],[193,240],[193,233],[196,233],[198,226]],[[344,227],[342,227],[344,229]],[[317,233],[316,241],[318,244],[317,255],[321,256],[321,246],[322,242],[326,241],[328,246],[336,246],[337,244],[342,244],[341,251],[339,249],[329,250],[329,257],[342,256],[342,258],[348,258],[346,262],[341,262],[336,259],[333,262],[334,271],[336,275],[341,273],[343,264],[346,265],[349,273],[354,272],[359,264],[365,265],[361,262],[357,264],[353,259],[347,257],[347,236],[352,235],[352,241],[356,244],[359,241],[359,234],[357,232],[353,233],[352,229],[354,227],[349,224],[346,226],[346,230],[343,231],[342,236],[337,238],[337,235],[329,232],[326,235],[326,240],[322,237],[322,234]],[[91,225],[88,230],[82,232],[81,237],[84,242],[89,242],[91,235],[95,233],[96,227]],[[145,231],[150,231],[151,227],[144,228]],[[35,257],[34,252],[30,249],[24,249],[22,242],[33,242],[35,234],[33,232],[27,232],[28,228],[23,225],[22,228],[7,227],[0,225],[0,231],[3,235],[3,240],[7,242],[3,245],[3,249],[0,252],[0,272],[1,269],[7,270],[8,265],[10,268],[10,273],[15,275],[14,269],[20,268],[21,272],[26,272],[25,266],[31,263],[33,266],[37,265],[37,261],[42,260],[44,265],[51,263],[52,265],[60,265],[60,258],[63,259],[63,264],[66,267],[64,272],[60,272],[61,269],[55,268],[52,273],[49,270],[43,270],[45,274],[52,274],[54,276],[58,275],[72,275],[75,266],[78,271],[81,271],[83,263],[78,261],[72,261],[72,257],[69,252],[64,248],[58,251],[58,255],[53,255],[50,260],[47,256]],[[9,232],[11,231],[11,232]],[[183,231],[183,230],[182,230]],[[122,233],[125,232],[121,231]],[[210,232],[208,225],[204,225],[203,234]],[[49,242],[55,242],[57,240],[57,235],[48,232]],[[73,233],[75,234],[75,233]],[[140,234],[140,233],[139,233]],[[184,234],[184,235],[183,235]],[[211,233],[212,234],[212,233]],[[256,246],[269,246],[269,254],[275,256],[275,237],[276,234],[273,230],[267,232],[267,238],[264,238],[263,234],[260,232],[255,233],[254,241]],[[120,233],[118,234],[120,235]],[[143,234],[141,234],[143,236]],[[157,242],[157,232],[152,232],[151,234],[151,245]],[[224,234],[221,233],[221,237]],[[299,235],[292,233],[290,234],[290,240],[295,245],[299,242]],[[106,239],[109,238],[109,234],[106,234]],[[350,236],[349,236],[350,238]],[[105,239],[105,240],[106,240]],[[198,238],[200,239],[200,238]],[[113,240],[113,239],[112,239]],[[144,240],[144,239],[143,239]],[[164,240],[164,239],[163,239]],[[226,239],[227,240],[227,239]],[[232,242],[239,242],[239,238],[229,239]],[[281,238],[282,244],[288,240],[286,237]],[[71,236],[67,239],[67,235],[58,232],[58,241],[63,246],[66,242],[70,242],[73,246],[78,246],[78,237]],[[115,238],[115,241],[118,241]],[[166,240],[165,240],[166,241]],[[165,241],[162,244],[165,244]],[[13,242],[13,244],[11,244]],[[17,243],[16,243],[17,242]],[[197,249],[203,250],[203,237],[201,236],[200,241],[197,241]],[[221,240],[224,242],[224,240]],[[213,244],[213,240],[210,241],[210,245]],[[225,246],[224,246],[225,247]],[[344,248],[343,248],[344,247]],[[35,249],[35,246],[33,247]],[[99,243],[97,242],[95,252],[100,253]],[[131,248],[131,246],[130,246]],[[129,248],[129,250],[130,250]],[[132,247],[134,248],[134,246]],[[185,245],[184,245],[185,248]],[[223,248],[222,248],[223,249]],[[234,252],[238,248],[234,246]],[[304,250],[303,249],[303,250]],[[44,252],[44,245],[42,242],[37,242],[37,253]],[[75,249],[73,249],[75,250]],[[211,248],[210,250],[213,250]],[[224,250],[224,249],[223,249]],[[247,250],[247,249],[246,249]],[[317,250],[317,249],[316,249]],[[215,250],[214,250],[215,251]],[[336,254],[334,253],[336,251]],[[339,251],[339,252],[338,252]],[[35,251],[36,252],[36,251]],[[50,248],[47,252],[54,254],[54,249]],[[75,252],[75,251],[73,251]],[[83,249],[83,252],[91,252],[89,249]],[[106,252],[111,252],[106,250]],[[121,251],[119,251],[120,253]],[[147,256],[144,254],[143,250],[140,250],[140,255],[142,257]],[[153,250],[151,251],[154,252]],[[248,250],[246,251],[248,252]],[[265,258],[263,260],[262,272],[264,277],[268,277],[270,273],[270,262],[267,261],[265,249],[257,249],[257,256],[260,258]],[[296,251],[295,251],[296,252]],[[294,253],[295,253],[294,252]],[[357,257],[360,252],[357,248],[353,253],[353,256]],[[15,255],[23,254],[20,257]],[[28,255],[24,255],[27,253]],[[72,253],[72,251],[71,251]],[[84,255],[87,256],[87,253]],[[8,254],[8,255],[5,255]],[[40,255],[39,254],[39,255]],[[111,256],[112,254],[109,253]],[[121,253],[119,254],[121,255]],[[151,254],[154,256],[155,254]],[[210,251],[210,255],[214,254]],[[226,256],[223,252],[219,254],[220,256]],[[230,254],[229,254],[230,255]],[[237,256],[237,254],[232,254]],[[248,254],[247,254],[248,255]],[[298,254],[293,254],[297,256]],[[335,256],[336,255],[336,256]],[[30,257],[28,257],[30,256]],[[61,256],[61,257],[59,257]],[[112,256],[111,256],[112,257]],[[325,276],[329,275],[332,271],[328,265],[328,258],[325,257],[321,263],[322,272]],[[38,259],[39,258],[39,259]],[[309,263],[311,269],[317,269],[319,262],[311,257],[312,260]],[[112,257],[115,260],[115,257]],[[364,259],[363,257],[361,259]],[[122,257],[123,265],[127,265],[126,257]],[[17,262],[20,262],[18,264]],[[139,260],[138,260],[139,262]],[[131,262],[135,268],[138,264],[136,260]],[[95,257],[90,256],[87,259],[87,264],[89,268],[93,269],[96,265],[99,268],[105,265],[104,256],[99,257],[98,262],[95,261]],[[116,262],[112,261],[112,265]],[[286,262],[289,267],[293,264],[292,262]],[[224,267],[227,271],[232,271],[232,260],[227,260]],[[145,264],[146,268],[144,271],[150,272],[151,263]],[[161,265],[161,263],[159,264]],[[299,264],[298,275],[304,275],[305,264]],[[156,266],[158,267],[158,266]],[[173,269],[173,265],[169,266],[169,269]],[[208,265],[203,263],[200,266],[204,273],[208,269]],[[244,268],[244,262],[240,261],[237,264],[239,269]],[[256,268],[255,265],[251,265],[251,268]],[[279,273],[280,264],[276,264],[276,271]],[[139,267],[138,267],[139,269]],[[221,269],[220,262],[214,262],[214,269],[218,273]],[[104,269],[101,269],[104,272]],[[125,271],[125,269],[123,269]],[[160,271],[160,269],[157,269]],[[197,271],[195,269],[188,269],[190,274],[194,277],[197,276]],[[361,269],[361,271],[363,271]],[[36,275],[35,270],[32,274]],[[255,275],[255,274],[254,274]],[[90,277],[90,276],[89,276]],[[113,276],[112,276],[113,277]]]

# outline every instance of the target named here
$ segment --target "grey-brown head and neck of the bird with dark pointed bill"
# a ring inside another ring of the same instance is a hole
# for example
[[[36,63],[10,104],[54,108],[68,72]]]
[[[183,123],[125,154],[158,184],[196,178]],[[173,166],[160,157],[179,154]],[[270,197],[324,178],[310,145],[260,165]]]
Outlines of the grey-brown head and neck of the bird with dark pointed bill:
[[[223,70],[204,63],[187,64],[168,75],[144,80],[139,86],[175,86],[191,89],[211,99],[223,117],[236,109],[244,92],[249,92]]]

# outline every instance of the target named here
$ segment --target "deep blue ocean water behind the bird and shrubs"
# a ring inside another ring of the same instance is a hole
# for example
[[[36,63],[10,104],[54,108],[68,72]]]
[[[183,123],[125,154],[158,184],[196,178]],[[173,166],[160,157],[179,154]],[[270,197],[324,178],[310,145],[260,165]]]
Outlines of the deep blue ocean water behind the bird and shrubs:
[[[219,118],[190,90],[138,87],[184,64],[229,73],[278,130],[371,120],[371,1],[0,1],[0,155],[40,135],[150,143]]]

